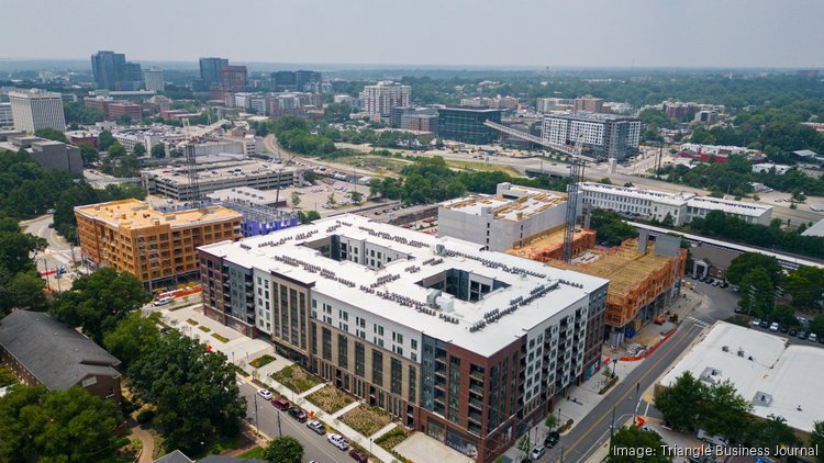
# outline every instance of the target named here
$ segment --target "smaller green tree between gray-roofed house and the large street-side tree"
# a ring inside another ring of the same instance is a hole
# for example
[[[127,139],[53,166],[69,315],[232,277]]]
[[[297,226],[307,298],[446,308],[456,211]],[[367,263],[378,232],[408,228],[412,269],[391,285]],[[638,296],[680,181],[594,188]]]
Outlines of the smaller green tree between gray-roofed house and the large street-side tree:
[[[113,331],[103,335],[103,347],[127,368],[159,342],[158,318],[157,313],[146,318],[138,312],[130,313]]]

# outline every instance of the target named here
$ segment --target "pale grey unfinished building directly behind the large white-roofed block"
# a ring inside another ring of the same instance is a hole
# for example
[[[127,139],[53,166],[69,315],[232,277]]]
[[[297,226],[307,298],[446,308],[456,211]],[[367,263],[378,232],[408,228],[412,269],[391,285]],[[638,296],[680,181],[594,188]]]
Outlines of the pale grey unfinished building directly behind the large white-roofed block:
[[[437,210],[438,236],[505,251],[564,225],[566,194],[499,183],[494,195],[459,197]]]

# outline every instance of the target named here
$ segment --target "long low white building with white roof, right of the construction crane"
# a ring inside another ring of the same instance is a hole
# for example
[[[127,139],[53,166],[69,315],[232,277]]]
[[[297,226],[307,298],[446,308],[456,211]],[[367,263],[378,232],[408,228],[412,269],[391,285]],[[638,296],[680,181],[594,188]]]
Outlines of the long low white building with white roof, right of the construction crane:
[[[749,224],[769,225],[772,218],[772,206],[699,196],[689,192],[669,193],[594,182],[581,183],[580,191],[583,204],[592,207],[660,222],[669,215],[673,225],[705,217],[711,211],[721,211]]]

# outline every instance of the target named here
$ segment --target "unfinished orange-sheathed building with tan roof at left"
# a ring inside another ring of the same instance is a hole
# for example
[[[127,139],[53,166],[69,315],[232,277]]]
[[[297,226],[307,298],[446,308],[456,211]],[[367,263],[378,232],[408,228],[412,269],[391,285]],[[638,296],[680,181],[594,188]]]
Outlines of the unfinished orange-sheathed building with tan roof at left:
[[[86,259],[144,283],[197,278],[198,246],[243,236],[241,214],[220,206],[162,212],[130,199],[76,206],[75,217]]]

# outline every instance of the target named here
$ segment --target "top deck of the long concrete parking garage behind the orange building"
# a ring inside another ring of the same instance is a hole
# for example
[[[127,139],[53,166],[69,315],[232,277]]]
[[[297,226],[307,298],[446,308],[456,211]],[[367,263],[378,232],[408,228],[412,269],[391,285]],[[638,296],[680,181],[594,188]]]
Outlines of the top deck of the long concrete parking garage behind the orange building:
[[[294,173],[299,170],[301,169],[293,166],[282,167],[282,165],[279,163],[265,162],[260,160],[226,161],[207,165],[199,163],[198,182],[200,184],[203,184],[238,177],[260,177],[275,174],[277,172]],[[187,176],[186,169],[182,167],[160,167],[156,169],[144,169],[141,171],[141,174],[151,176],[166,183],[178,185],[189,184],[189,176]]]

